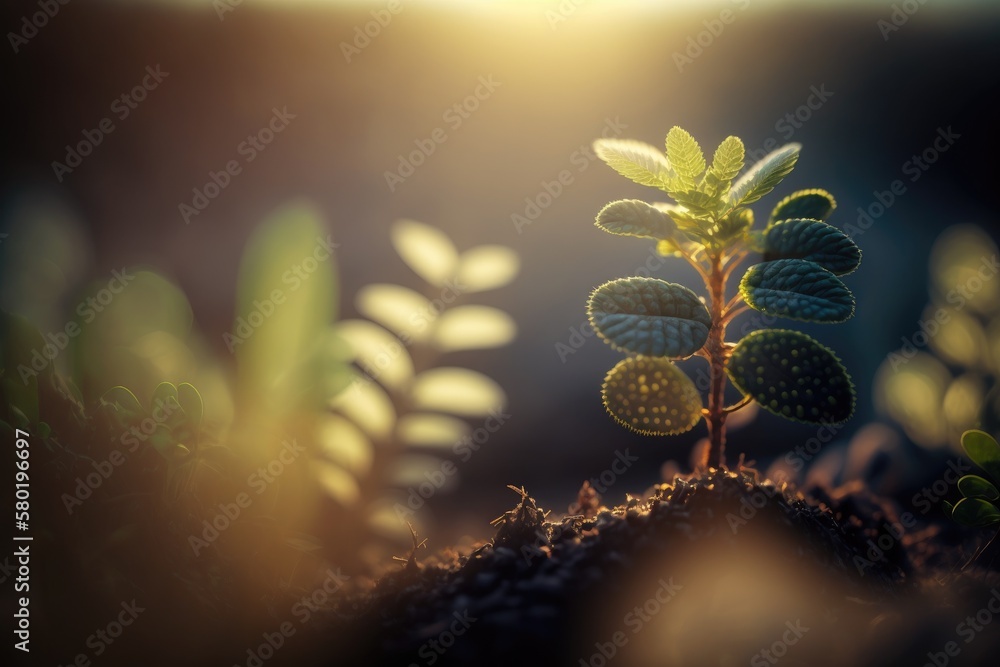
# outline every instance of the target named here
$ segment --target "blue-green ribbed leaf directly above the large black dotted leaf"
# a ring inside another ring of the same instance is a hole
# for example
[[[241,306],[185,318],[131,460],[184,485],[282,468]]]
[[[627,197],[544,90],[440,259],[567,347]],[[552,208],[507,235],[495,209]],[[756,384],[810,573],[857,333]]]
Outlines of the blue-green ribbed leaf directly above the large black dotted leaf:
[[[751,266],[740,281],[751,308],[803,322],[843,322],[854,315],[854,297],[819,264],[779,259]]]

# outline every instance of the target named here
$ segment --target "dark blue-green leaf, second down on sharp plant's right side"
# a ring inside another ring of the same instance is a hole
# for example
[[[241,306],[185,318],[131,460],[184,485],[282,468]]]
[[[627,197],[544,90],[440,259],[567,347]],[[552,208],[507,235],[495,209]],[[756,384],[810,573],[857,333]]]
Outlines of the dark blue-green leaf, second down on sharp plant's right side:
[[[861,250],[832,225],[818,220],[783,220],[764,233],[764,261],[804,259],[842,276],[861,264]]]

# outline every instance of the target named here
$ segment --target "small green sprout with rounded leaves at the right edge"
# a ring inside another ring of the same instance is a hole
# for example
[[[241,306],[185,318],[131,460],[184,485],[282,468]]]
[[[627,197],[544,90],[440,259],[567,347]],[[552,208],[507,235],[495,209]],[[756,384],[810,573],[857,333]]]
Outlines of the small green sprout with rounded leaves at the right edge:
[[[965,475],[958,480],[962,499],[954,505],[945,501],[945,511],[952,519],[965,526],[983,528],[998,524],[1000,445],[989,433],[972,430],[962,434],[962,449],[993,481],[979,475]]]

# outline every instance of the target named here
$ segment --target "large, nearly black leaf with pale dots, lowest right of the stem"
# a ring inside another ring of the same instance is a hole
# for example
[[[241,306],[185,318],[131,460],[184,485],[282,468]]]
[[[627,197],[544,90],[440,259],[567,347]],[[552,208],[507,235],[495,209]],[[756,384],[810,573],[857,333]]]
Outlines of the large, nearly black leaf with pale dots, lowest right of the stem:
[[[828,348],[798,331],[755,331],[733,348],[733,384],[760,406],[793,421],[839,424],[854,414],[854,385]]]

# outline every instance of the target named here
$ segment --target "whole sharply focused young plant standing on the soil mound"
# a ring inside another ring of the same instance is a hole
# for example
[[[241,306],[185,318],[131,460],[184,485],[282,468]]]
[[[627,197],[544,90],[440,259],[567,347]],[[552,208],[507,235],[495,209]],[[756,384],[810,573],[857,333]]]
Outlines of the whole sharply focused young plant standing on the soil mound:
[[[649,238],[663,255],[682,257],[705,283],[708,300],[656,278],[621,278],[598,287],[588,317],[601,338],[630,355],[604,382],[604,405],[624,426],[648,435],[688,431],[702,418],[710,446],[703,467],[725,467],[726,417],[750,401],[776,415],[809,423],[840,423],[854,412],[850,376],[834,353],[809,336],[784,329],[754,331],[737,343],[726,327],[748,309],[804,322],[843,322],[854,297],[838,276],[854,271],[861,251],[824,222],[836,206],[823,190],[801,190],[775,206],[753,231],[747,206],[792,171],[800,146],[787,144],[739,179],[743,142],[727,137],[711,164],[679,127],[667,134],[666,155],[638,141],[599,139],[598,157],[622,176],[666,192],[674,204],[624,199],[605,206],[597,226],[612,234]],[[751,252],[739,291],[727,283]],[[695,384],[674,365],[691,356],[709,364],[708,407]],[[743,398],[725,404],[726,376]]]

